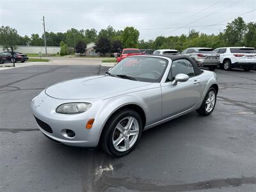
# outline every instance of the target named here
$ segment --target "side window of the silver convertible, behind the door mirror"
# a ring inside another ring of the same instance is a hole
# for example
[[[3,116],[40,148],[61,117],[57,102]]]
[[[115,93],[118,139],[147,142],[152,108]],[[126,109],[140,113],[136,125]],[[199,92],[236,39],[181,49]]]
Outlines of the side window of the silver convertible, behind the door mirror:
[[[177,74],[186,74],[189,77],[195,76],[195,70],[192,63],[185,59],[173,61],[166,81],[173,81]]]

